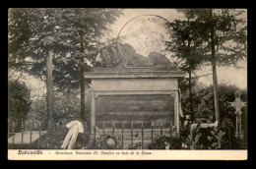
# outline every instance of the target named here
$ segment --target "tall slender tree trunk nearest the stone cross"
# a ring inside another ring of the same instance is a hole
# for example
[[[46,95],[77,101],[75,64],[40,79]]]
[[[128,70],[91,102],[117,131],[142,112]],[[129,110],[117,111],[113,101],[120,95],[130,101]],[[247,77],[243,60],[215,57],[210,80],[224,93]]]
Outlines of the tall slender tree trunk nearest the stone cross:
[[[213,18],[213,11],[210,10],[210,16]],[[214,84],[214,101],[215,101],[215,119],[220,123],[220,103],[218,94],[218,81],[216,70],[216,58],[215,58],[215,30],[211,24],[211,45],[212,45],[212,67],[213,67],[213,84]]]

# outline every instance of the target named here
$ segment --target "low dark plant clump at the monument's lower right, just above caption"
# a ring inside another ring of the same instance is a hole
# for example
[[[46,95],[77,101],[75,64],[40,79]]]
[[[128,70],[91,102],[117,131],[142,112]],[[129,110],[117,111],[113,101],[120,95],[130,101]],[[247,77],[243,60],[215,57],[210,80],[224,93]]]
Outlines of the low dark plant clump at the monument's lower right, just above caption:
[[[182,145],[182,140],[178,136],[171,137],[158,137],[152,141],[148,148],[149,149],[166,149],[166,144],[169,146],[169,149],[180,149]]]

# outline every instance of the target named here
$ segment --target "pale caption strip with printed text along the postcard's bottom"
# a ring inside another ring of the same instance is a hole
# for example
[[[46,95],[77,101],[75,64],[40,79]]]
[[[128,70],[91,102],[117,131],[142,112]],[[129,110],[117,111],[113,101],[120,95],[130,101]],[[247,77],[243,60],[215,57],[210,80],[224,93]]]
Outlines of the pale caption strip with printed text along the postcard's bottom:
[[[19,154],[19,152],[25,152],[25,151],[35,151],[35,152],[39,151],[41,154],[21,154],[21,153]],[[56,152],[58,152],[58,154],[56,154]],[[80,152],[81,154],[77,154],[77,152]],[[125,152],[127,153],[125,154]],[[147,150],[147,149],[145,150],[141,150],[141,149],[140,150],[139,149],[11,150],[10,149],[8,150],[8,159],[9,160],[246,160],[247,150]]]

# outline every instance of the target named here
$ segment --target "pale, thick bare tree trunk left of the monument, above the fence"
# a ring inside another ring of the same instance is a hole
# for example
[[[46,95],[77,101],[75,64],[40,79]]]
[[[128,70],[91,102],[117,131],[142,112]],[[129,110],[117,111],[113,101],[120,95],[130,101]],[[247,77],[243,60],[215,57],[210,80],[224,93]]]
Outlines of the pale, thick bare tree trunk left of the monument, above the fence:
[[[47,104],[47,125],[53,125],[53,86],[52,86],[52,51],[49,50],[46,56],[46,104]]]

